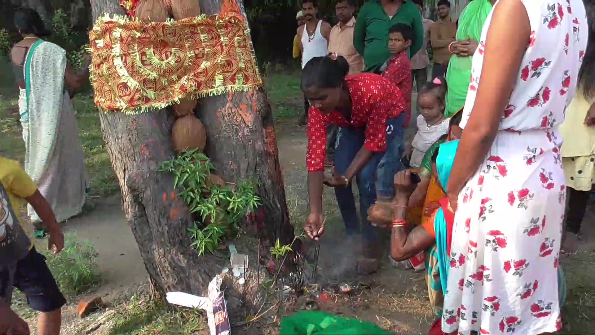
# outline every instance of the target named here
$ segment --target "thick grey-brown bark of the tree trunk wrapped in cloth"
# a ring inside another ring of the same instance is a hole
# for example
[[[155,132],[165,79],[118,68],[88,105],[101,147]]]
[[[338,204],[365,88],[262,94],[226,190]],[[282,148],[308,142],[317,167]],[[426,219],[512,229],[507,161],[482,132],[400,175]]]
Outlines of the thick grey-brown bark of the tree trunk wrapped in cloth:
[[[175,1],[175,0],[174,0]],[[218,13],[220,0],[203,0],[202,11]],[[118,0],[91,0],[93,20],[103,13],[124,14]],[[234,92],[200,101],[197,116],[207,131],[206,150],[226,181],[259,182],[264,215],[261,234],[291,241],[293,228],[285,201],[271,108],[262,89]],[[187,206],[176,197],[173,177],[157,172],[174,156],[167,110],[137,115],[101,112],[101,126],[112,166],[120,182],[124,212],[145,267],[159,291],[203,294],[228,260],[198,256],[190,248],[193,225]]]

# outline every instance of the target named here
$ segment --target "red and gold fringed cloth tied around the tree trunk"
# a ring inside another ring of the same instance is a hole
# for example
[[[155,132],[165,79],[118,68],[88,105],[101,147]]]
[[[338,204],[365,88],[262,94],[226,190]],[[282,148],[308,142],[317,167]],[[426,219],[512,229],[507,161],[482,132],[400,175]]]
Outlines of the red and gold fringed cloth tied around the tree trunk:
[[[262,85],[239,13],[143,23],[105,15],[89,32],[95,104],[138,113]]]

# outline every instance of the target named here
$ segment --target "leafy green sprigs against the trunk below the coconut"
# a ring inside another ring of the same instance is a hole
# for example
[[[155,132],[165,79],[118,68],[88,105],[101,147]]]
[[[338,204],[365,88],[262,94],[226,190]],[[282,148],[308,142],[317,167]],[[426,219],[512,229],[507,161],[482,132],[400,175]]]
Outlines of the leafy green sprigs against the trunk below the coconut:
[[[203,222],[195,222],[188,229],[199,255],[212,253],[223,237],[237,234],[240,221],[260,205],[253,183],[239,182],[234,190],[209,183],[215,168],[205,154],[196,150],[161,163],[159,170],[174,175],[174,188],[181,188],[180,197],[190,213],[200,216]]]

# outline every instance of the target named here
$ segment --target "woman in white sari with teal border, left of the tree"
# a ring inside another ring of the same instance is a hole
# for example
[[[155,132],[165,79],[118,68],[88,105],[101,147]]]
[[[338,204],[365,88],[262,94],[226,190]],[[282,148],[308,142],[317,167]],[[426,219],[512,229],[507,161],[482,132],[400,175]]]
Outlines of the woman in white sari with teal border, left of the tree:
[[[79,214],[85,200],[83,151],[65,84],[80,88],[89,77],[89,61],[75,73],[64,49],[43,41],[49,32],[35,10],[17,10],[14,21],[23,36],[11,49],[11,60],[20,88],[25,170],[61,222]],[[31,206],[27,212],[34,224],[40,222]]]

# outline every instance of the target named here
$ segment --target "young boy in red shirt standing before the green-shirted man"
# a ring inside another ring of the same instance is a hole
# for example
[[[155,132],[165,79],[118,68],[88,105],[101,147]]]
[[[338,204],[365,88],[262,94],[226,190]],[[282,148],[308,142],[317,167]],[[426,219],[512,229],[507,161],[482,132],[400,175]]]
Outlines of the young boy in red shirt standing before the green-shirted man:
[[[389,29],[389,50],[393,57],[381,67],[382,76],[396,85],[405,99],[405,110],[407,116],[405,126],[409,125],[411,117],[411,89],[413,76],[411,74],[411,63],[407,49],[411,45],[413,32],[406,24],[397,23]]]

